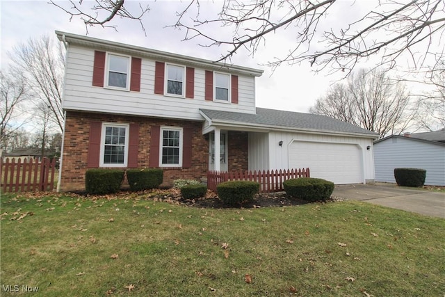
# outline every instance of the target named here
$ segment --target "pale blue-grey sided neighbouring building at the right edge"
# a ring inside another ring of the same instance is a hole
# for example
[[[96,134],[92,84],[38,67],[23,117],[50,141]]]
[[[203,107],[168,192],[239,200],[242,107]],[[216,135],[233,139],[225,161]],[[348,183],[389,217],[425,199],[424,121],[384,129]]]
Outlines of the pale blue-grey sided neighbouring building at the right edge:
[[[430,132],[430,136],[436,138],[437,132]],[[375,180],[395,183],[394,168],[421,168],[426,170],[425,184],[445,186],[445,143],[441,142],[445,139],[428,141],[415,138],[418,134],[405,135],[375,141]],[[429,136],[422,133],[421,137]]]

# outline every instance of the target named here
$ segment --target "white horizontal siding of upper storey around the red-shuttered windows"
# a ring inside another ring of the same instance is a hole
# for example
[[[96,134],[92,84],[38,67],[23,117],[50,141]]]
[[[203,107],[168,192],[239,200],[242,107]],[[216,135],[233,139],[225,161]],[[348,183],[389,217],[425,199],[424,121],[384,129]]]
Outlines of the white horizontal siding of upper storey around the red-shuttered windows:
[[[205,70],[195,68],[195,97],[154,94],[156,61],[142,59],[140,92],[92,86],[94,50],[71,45],[67,54],[63,108],[102,113],[124,113],[165,118],[202,120],[199,109],[254,113],[254,77],[238,75],[238,104],[204,99]]]

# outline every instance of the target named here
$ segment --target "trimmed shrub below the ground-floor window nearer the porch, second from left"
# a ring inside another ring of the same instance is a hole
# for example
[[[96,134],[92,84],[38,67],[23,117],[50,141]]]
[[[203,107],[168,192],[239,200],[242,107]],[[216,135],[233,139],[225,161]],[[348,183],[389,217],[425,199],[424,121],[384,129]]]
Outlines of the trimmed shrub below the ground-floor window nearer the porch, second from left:
[[[163,182],[163,171],[159,168],[129,169],[127,179],[131,191],[157,188]]]

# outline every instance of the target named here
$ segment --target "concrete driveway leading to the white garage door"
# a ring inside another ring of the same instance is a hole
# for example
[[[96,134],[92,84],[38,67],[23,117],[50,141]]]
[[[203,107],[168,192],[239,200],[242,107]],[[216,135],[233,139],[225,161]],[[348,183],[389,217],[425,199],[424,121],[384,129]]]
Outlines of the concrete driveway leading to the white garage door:
[[[333,196],[361,200],[426,216],[445,218],[445,192],[405,188],[396,184],[336,185]]]

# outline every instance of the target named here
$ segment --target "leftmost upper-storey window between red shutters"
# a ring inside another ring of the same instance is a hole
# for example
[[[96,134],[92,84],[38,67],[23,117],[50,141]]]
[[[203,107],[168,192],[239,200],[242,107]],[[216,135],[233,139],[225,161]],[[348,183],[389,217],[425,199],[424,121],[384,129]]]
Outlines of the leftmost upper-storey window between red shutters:
[[[130,78],[130,57],[108,54],[107,61],[106,86],[127,90]]]

